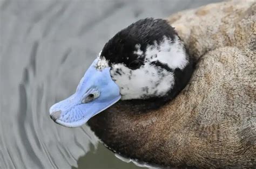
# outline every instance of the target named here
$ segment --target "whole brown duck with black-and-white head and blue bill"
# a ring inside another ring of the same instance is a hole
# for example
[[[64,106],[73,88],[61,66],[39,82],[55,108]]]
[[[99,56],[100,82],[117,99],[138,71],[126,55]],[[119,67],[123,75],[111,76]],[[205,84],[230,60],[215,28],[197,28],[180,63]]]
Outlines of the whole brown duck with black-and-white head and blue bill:
[[[50,108],[122,157],[161,167],[256,167],[251,0],[145,18],[114,35]]]

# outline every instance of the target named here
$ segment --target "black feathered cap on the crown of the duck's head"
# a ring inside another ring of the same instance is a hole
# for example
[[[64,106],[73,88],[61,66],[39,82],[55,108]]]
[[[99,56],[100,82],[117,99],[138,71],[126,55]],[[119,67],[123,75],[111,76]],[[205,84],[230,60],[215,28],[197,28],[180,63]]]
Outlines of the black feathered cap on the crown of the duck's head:
[[[174,39],[176,35],[173,27],[164,19],[141,19],[110,39],[103,47],[100,57],[109,60],[110,65],[122,63],[128,67],[134,60],[140,60],[144,63],[146,48],[149,45],[153,47],[153,45],[160,44],[164,37]],[[142,51],[143,54],[139,55],[138,50]],[[140,68],[140,66],[135,69]]]

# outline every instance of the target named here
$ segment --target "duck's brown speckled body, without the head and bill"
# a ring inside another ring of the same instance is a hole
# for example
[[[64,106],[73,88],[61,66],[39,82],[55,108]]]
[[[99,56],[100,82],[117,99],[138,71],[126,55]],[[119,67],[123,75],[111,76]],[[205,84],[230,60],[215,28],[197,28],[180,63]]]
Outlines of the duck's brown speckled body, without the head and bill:
[[[194,60],[188,85],[156,110],[119,101],[89,121],[110,149],[163,166],[256,167],[256,3],[168,18]]]

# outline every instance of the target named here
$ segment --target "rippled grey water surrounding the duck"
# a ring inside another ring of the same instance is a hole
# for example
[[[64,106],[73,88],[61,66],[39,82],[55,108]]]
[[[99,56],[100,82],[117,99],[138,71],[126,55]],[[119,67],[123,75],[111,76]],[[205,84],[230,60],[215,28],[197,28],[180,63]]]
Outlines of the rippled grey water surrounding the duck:
[[[75,92],[108,39],[139,18],[220,0],[0,0],[0,168],[139,168],[90,129],[55,124],[49,107]]]

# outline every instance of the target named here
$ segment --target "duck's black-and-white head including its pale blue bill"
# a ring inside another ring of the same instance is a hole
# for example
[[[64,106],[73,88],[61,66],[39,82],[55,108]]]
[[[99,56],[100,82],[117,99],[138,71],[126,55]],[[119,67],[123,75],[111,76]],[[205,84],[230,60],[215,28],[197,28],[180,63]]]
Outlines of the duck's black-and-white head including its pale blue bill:
[[[166,20],[138,20],[105,44],[76,93],[52,105],[50,116],[60,125],[77,127],[119,100],[164,104],[185,87],[191,65],[183,42]]]

